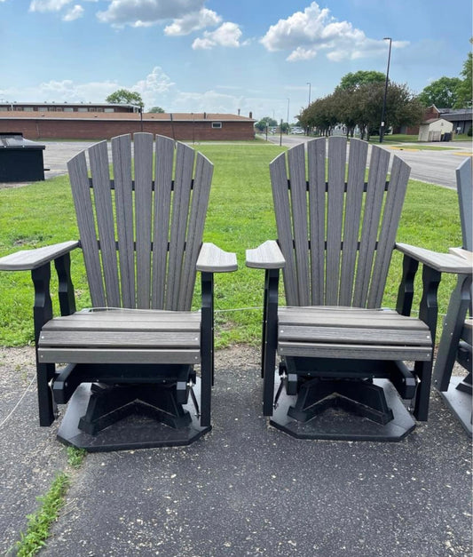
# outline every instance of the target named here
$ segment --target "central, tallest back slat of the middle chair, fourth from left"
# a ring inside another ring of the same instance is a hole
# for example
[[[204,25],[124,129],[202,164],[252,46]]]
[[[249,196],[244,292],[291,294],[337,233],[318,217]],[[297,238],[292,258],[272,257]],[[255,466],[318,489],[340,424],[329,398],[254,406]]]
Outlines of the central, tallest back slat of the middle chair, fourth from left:
[[[338,304],[345,169],[346,139],[342,137],[330,138],[328,140],[327,271],[325,294],[327,306],[336,306]]]

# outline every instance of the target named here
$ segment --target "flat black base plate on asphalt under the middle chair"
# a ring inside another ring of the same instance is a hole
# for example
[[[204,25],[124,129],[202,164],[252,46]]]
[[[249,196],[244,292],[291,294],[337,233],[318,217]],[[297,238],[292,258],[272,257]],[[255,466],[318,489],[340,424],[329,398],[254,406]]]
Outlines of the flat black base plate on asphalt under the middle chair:
[[[276,394],[279,386],[279,373],[276,372],[275,389]],[[374,390],[382,390],[383,398],[392,412],[392,419],[387,423],[379,423],[367,418],[362,414],[366,411],[366,406],[356,402],[335,403],[332,399],[329,403],[323,404],[320,413],[314,412],[313,417],[307,414],[301,421],[292,418],[290,414],[298,416],[298,411],[294,410],[297,406],[297,395],[288,395],[284,389],[280,394],[278,407],[273,411],[270,424],[277,427],[286,434],[298,439],[326,439],[343,441],[385,441],[398,442],[407,434],[411,433],[415,427],[414,418],[411,416],[402,400],[398,396],[395,387],[387,379],[374,379]],[[341,399],[342,401],[342,399]],[[293,410],[291,410],[291,407]]]

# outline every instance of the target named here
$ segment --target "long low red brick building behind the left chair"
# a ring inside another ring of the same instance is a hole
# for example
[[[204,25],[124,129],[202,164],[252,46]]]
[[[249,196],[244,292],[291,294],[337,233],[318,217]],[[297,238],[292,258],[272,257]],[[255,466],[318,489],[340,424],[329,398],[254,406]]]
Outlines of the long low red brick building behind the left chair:
[[[124,133],[148,131],[185,141],[249,140],[255,138],[254,123],[251,113],[246,117],[205,112],[0,111],[0,133],[19,132],[28,139],[110,139]]]

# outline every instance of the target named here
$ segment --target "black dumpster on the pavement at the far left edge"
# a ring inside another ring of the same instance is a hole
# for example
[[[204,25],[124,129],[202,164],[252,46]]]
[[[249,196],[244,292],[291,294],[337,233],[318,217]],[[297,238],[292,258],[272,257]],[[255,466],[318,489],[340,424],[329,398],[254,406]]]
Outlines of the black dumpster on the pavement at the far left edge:
[[[44,145],[22,133],[0,133],[0,182],[36,182],[44,179]]]

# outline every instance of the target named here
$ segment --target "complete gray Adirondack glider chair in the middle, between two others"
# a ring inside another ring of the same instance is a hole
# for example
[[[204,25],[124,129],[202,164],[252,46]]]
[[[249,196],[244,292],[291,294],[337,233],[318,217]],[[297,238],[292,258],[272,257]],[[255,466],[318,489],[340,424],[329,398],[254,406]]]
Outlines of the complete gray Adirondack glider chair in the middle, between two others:
[[[406,163],[395,156],[388,181],[390,154],[372,147],[366,182],[366,142],[351,139],[348,161],[345,138],[327,144],[327,178],[324,138],[306,144],[307,157],[300,145],[272,161],[278,242],[247,251],[248,267],[266,273],[263,411],[272,426],[300,438],[398,441],[414,418],[428,417],[441,273],[466,266],[395,243]],[[404,254],[396,311],[382,309],[394,248]],[[419,262],[424,293],[414,318]],[[280,268],[287,307],[278,307]]]

